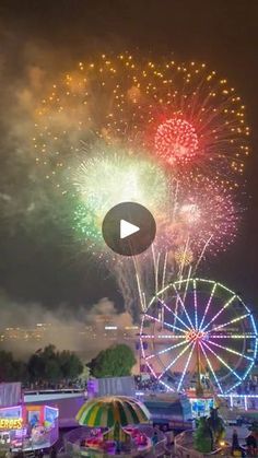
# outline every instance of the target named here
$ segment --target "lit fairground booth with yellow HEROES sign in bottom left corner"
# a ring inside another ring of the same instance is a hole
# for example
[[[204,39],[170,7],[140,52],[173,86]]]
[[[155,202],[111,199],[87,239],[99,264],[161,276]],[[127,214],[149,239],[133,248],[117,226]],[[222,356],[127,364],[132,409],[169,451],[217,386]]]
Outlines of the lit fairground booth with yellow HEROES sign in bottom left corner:
[[[0,448],[37,450],[58,439],[58,409],[26,406],[21,384],[0,384]]]

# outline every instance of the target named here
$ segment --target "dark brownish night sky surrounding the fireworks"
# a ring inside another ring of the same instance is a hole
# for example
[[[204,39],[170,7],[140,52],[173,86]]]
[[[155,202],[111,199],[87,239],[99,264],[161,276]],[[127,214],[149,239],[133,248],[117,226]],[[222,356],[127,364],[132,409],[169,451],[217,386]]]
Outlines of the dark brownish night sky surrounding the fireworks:
[[[25,114],[16,110],[14,94],[24,91],[30,66],[52,74],[57,69],[73,68],[96,52],[129,49],[137,55],[159,57],[173,52],[178,60],[204,61],[225,75],[243,96],[251,128],[251,156],[246,163],[243,197],[248,209],[236,243],[207,263],[202,275],[241,292],[247,303],[257,307],[257,24],[256,0],[1,1],[2,303],[15,302],[19,306],[36,302],[52,310],[66,303],[75,310],[79,304],[90,306],[101,297],[109,297],[118,308],[122,307],[113,280],[90,260],[78,261],[71,255],[66,235],[55,220],[55,202],[52,218],[46,218],[44,207],[33,222],[24,218],[23,205],[28,204],[30,196],[42,196],[39,185],[32,180],[30,154],[15,141],[21,118],[22,122],[26,120]]]

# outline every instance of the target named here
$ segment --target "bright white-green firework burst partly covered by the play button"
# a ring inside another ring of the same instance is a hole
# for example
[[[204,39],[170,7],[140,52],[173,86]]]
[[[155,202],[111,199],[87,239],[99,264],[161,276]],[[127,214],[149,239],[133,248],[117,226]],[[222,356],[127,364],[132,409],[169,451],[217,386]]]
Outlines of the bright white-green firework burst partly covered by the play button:
[[[89,243],[89,250],[110,250],[102,237],[102,223],[110,208],[121,202],[137,202],[159,220],[168,208],[166,175],[160,166],[145,158],[130,156],[126,151],[98,148],[79,165],[73,174],[79,199],[74,228]],[[114,255],[113,255],[114,258]]]

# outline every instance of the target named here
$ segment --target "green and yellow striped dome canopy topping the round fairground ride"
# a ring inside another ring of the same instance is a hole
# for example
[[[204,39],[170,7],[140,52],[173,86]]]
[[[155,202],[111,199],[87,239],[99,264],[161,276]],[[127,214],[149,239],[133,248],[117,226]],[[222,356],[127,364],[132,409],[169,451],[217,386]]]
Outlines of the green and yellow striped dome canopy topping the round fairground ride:
[[[79,410],[79,424],[92,427],[112,427],[146,423],[150,412],[142,402],[126,396],[112,396],[92,399]]]

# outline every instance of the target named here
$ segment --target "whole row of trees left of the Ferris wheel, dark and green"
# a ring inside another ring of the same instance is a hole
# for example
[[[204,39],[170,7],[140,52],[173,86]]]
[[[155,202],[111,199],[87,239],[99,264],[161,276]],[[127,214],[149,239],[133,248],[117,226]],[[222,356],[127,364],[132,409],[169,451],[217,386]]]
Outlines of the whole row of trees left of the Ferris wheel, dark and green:
[[[11,352],[0,351],[0,383],[22,381],[24,386],[82,384],[92,377],[122,377],[130,375],[137,363],[132,349],[118,343],[102,350],[87,365],[68,350],[58,351],[54,345],[37,350],[28,361],[15,361]]]

